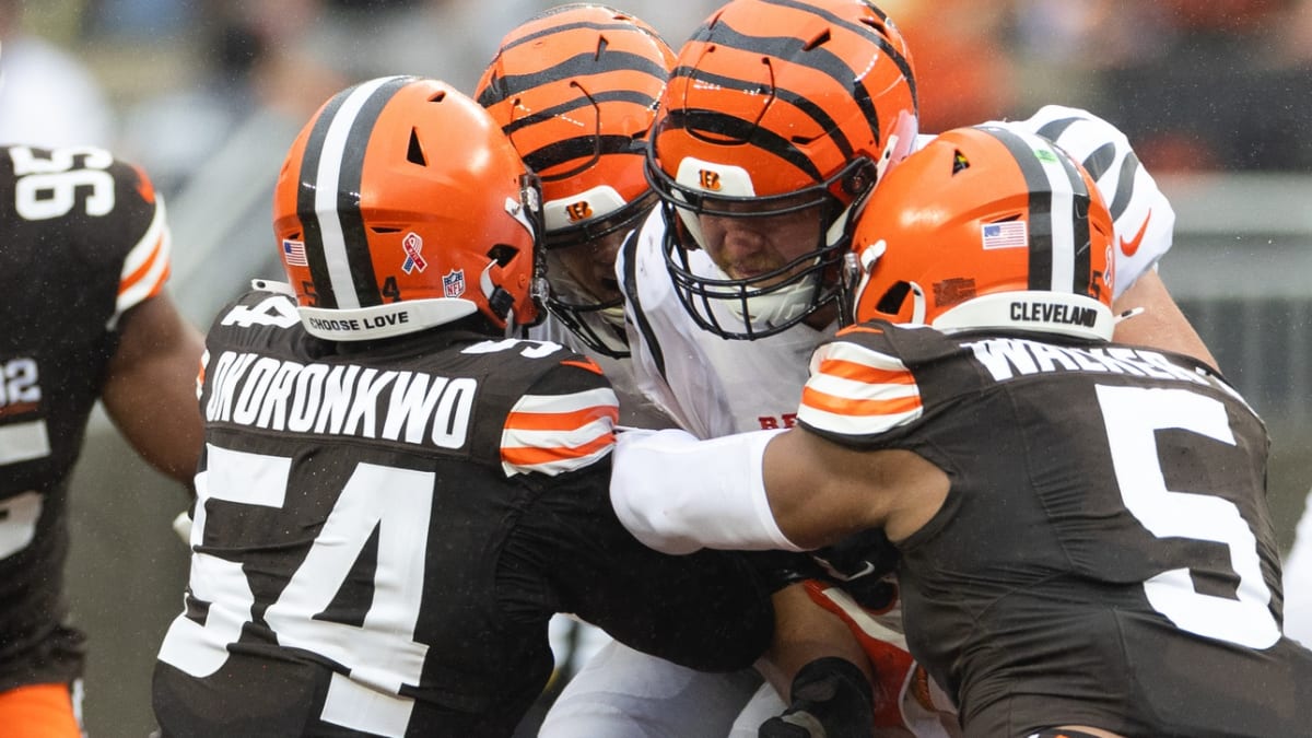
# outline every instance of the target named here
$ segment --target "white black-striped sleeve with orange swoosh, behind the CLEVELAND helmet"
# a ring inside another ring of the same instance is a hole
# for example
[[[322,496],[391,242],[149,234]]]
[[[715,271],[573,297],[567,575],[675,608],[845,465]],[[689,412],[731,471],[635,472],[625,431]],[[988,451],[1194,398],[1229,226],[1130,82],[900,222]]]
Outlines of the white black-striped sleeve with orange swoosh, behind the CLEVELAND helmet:
[[[1139,163],[1120,129],[1093,113],[1063,105],[1044,105],[1030,118],[1000,125],[1047,138],[1089,171],[1111,210],[1114,297],[1120,297],[1170,251],[1176,210]]]

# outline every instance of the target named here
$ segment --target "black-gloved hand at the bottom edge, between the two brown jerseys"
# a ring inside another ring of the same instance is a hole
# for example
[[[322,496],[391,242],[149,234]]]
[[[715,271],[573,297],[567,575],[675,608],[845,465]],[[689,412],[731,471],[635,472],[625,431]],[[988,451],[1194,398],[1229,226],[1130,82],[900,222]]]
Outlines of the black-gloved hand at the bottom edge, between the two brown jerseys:
[[[837,657],[819,658],[792,678],[792,703],[761,724],[758,738],[871,738],[870,682]]]

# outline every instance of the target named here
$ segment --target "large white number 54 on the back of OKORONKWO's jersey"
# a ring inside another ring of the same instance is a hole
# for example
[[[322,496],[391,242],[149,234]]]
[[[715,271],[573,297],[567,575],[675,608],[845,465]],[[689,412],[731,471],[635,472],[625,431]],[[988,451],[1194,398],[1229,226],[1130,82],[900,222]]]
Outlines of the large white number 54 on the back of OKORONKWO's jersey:
[[[197,477],[192,545],[205,540],[206,500],[282,508],[291,460],[206,448],[207,469]],[[399,695],[419,684],[428,646],[415,624],[424,590],[424,552],[434,475],[374,464],[356,466],[304,562],[264,612],[278,645],[318,654],[349,670],[333,672],[320,717],[331,724],[403,735],[413,700]],[[327,611],[361,550],[378,531],[374,597],[361,626],[315,616]],[[195,552],[190,596],[211,603],[203,625],[180,615],[160,646],[160,661],[195,678],[218,671],[228,645],[252,619],[255,595],[241,563]]]

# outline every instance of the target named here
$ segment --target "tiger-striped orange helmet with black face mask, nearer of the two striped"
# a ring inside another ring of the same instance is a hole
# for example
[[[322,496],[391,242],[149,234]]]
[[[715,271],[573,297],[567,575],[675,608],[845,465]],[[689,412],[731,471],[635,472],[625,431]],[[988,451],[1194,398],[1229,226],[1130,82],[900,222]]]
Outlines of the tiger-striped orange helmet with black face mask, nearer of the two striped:
[[[837,302],[851,215],[911,151],[916,109],[911,53],[871,3],[731,0],[707,18],[680,50],[647,167],[666,267],[697,323],[757,339]],[[816,209],[815,248],[778,269],[731,278],[690,265],[698,215]]]

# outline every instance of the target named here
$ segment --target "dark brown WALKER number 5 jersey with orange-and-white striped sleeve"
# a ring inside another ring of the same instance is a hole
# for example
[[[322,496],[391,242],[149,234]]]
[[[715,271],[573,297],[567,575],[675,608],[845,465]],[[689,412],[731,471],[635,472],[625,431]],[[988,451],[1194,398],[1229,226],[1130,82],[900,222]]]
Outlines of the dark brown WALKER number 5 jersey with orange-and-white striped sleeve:
[[[967,735],[1295,735],[1262,422],[1187,357],[869,323],[812,360],[799,423],[947,473],[899,544],[912,654]]]

